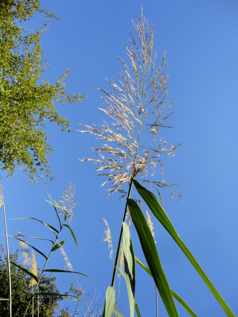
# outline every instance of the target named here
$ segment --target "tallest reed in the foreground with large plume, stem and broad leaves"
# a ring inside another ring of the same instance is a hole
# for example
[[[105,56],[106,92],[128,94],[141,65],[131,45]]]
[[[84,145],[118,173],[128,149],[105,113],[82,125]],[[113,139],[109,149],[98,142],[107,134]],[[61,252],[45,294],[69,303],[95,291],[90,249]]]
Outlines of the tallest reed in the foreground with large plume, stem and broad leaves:
[[[175,149],[181,144],[168,146],[166,139],[161,137],[162,129],[171,128],[167,121],[172,114],[173,100],[166,107],[168,75],[165,73],[165,53],[161,65],[156,68],[156,54],[153,53],[155,26],[149,30],[148,22],[146,22],[142,13],[141,17],[137,18],[136,23],[133,23],[133,27],[135,36],[131,35],[129,45],[126,45],[129,64],[119,58],[122,63],[122,69],[118,72],[120,75],[119,83],[108,80],[111,87],[110,91],[99,88],[103,94],[102,100],[105,105],[100,110],[108,116],[109,121],[102,119],[100,126],[94,123],[91,125],[79,123],[81,129],[78,130],[80,133],[92,134],[100,140],[99,146],[93,149],[97,158],[83,158],[79,161],[91,161],[97,165],[97,175],[106,177],[102,185],[108,185],[108,195],[119,192],[119,198],[127,196],[111,285],[106,291],[102,316],[111,317],[113,313],[119,317],[122,316],[115,306],[117,270],[126,281],[130,317],[134,317],[135,311],[137,316],[140,316],[139,307],[135,300],[136,262],[148,273],[148,276],[153,277],[156,294],[158,289],[169,316],[178,316],[174,298],[191,316],[196,316],[188,304],[171,290],[155,245],[150,218],[147,215],[146,220],[138,205],[139,203],[148,206],[188,257],[227,315],[234,317],[234,313],[221,298],[192,253],[178,236],[169,217],[163,210],[161,189],[175,186],[175,184],[167,184],[165,179],[154,180],[149,177],[150,174],[154,175],[157,166],[161,168],[163,174],[165,164],[162,157],[174,155]],[[155,188],[159,200],[142,184]],[[131,198],[133,185],[139,197],[133,195],[133,198]],[[172,196],[174,193],[182,199],[180,194],[173,189]],[[139,236],[148,266],[142,263],[134,254],[129,230],[130,217]],[[118,266],[122,237],[124,271],[120,265]],[[107,238],[109,239],[108,232]],[[108,242],[111,242],[111,236]]]

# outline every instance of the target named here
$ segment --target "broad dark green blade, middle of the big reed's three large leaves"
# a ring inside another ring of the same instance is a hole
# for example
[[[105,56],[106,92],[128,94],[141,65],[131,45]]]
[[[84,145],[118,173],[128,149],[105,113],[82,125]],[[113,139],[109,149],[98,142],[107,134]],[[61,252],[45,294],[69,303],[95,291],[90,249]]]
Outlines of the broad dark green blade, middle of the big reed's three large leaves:
[[[129,207],[131,219],[135,225],[140,239],[144,256],[149,265],[150,271],[155,281],[155,285],[157,286],[164,306],[170,317],[178,317],[178,312],[169,287],[169,283],[164,274],[160,258],[155,246],[155,241],[146,222],[146,219],[140,207],[133,199],[127,198],[127,204]]]

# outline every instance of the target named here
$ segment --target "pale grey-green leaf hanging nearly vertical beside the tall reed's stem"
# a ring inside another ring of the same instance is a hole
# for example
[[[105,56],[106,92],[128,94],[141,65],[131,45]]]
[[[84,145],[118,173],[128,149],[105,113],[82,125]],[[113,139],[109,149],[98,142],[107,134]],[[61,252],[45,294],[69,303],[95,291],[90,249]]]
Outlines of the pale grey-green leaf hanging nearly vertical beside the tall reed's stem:
[[[136,263],[133,245],[130,237],[130,231],[127,223],[122,223],[123,227],[123,251],[126,285],[130,306],[130,317],[134,317],[135,313],[135,283],[136,283]]]

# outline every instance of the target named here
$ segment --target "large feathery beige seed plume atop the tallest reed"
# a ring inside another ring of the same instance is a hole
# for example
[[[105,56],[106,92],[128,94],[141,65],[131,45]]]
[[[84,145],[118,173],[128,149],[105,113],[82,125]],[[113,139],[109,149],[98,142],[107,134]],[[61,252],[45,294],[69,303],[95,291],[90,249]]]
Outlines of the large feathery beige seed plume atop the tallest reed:
[[[131,35],[130,45],[126,45],[130,66],[119,58],[122,63],[122,69],[118,72],[121,76],[119,84],[107,80],[111,92],[98,88],[103,93],[102,100],[106,105],[100,110],[109,116],[111,124],[105,120],[101,120],[101,126],[79,123],[86,129],[77,130],[93,134],[95,139],[102,141],[100,147],[93,149],[98,159],[84,158],[78,161],[92,161],[98,165],[97,175],[107,177],[102,185],[111,184],[107,189],[108,195],[119,191],[121,197],[125,196],[127,192],[121,185],[129,182],[132,177],[140,176],[143,182],[155,186],[162,199],[158,189],[172,185],[163,181],[151,181],[147,176],[149,170],[154,175],[157,165],[163,173],[165,165],[161,156],[174,155],[175,148],[180,145],[168,147],[162,137],[156,139],[162,128],[171,128],[166,121],[172,114],[170,107],[173,100],[165,110],[168,75],[165,74],[165,53],[161,66],[155,69],[156,54],[152,54],[155,26],[149,32],[148,22],[143,15],[137,18],[133,26],[139,45]]]

